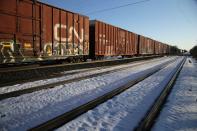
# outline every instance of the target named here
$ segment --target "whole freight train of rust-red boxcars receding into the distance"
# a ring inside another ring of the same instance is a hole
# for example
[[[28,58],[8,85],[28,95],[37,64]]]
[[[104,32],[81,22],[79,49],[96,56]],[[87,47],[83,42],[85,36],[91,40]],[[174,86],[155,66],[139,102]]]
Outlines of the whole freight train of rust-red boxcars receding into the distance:
[[[170,46],[36,0],[0,1],[0,64],[169,54]]]

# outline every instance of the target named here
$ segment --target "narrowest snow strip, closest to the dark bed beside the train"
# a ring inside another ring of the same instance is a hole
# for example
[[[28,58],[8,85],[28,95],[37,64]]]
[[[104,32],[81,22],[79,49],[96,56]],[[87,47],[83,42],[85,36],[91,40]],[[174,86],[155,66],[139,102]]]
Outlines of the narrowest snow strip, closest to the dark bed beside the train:
[[[150,62],[163,61],[163,60],[167,60],[167,59],[172,59],[172,58],[162,57],[162,58],[152,59],[152,60],[150,60]],[[70,80],[70,79],[74,79],[74,78],[78,78],[78,77],[88,76],[88,75],[95,74],[95,73],[111,71],[114,69],[125,68],[125,67],[134,66],[139,63],[146,63],[146,62],[148,62],[148,61],[144,61],[144,62],[140,61],[140,62],[136,62],[136,63],[124,64],[124,65],[114,66],[114,67],[110,67],[110,68],[105,67],[105,68],[94,68],[94,69],[91,68],[91,69],[80,69],[80,70],[74,70],[74,71],[66,71],[66,72],[62,72],[62,74],[65,74],[65,76],[61,76],[61,77],[45,79],[45,80],[38,80],[38,81],[34,81],[34,82],[27,82],[24,84],[16,84],[13,86],[1,87],[0,94],[12,92],[12,91],[17,91],[17,90],[23,90],[23,89],[27,89],[27,88],[31,88],[31,87],[35,87],[35,86],[50,84],[50,83],[54,83],[54,82],[58,82],[58,81]],[[87,71],[87,72],[66,75],[67,73],[74,73],[77,71]]]

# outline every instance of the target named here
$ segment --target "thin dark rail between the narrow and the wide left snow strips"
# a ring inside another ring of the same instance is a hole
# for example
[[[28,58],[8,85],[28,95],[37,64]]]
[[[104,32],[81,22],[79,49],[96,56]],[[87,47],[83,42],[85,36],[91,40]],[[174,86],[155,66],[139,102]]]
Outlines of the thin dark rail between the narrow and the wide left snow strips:
[[[170,63],[173,60],[174,59],[170,60],[167,63]],[[159,60],[156,60],[156,61],[159,61]],[[23,95],[23,94],[32,93],[32,92],[43,90],[43,89],[50,89],[50,88],[54,88],[54,87],[59,86],[59,85],[68,84],[68,83],[72,83],[72,82],[77,82],[77,81],[97,77],[97,76],[100,76],[100,75],[105,75],[105,74],[108,74],[108,73],[114,73],[114,72],[117,72],[117,71],[126,70],[128,68],[136,67],[136,66],[143,65],[143,64],[148,64],[148,63],[151,63],[151,62],[153,62],[153,61],[145,61],[145,62],[141,62],[141,63],[136,63],[135,65],[127,66],[127,67],[121,67],[121,68],[118,68],[118,69],[112,69],[112,70],[99,72],[99,73],[94,73],[94,74],[90,74],[90,75],[86,75],[86,76],[79,76],[77,78],[67,79],[67,80],[58,81],[58,82],[54,82],[54,83],[49,83],[49,84],[45,84],[45,85],[39,85],[39,86],[34,86],[34,87],[26,88],[26,89],[16,90],[16,91],[8,92],[8,93],[3,93],[3,94],[0,94],[0,100],[20,96],[20,95]],[[105,67],[105,68],[109,68],[109,67]],[[90,69],[90,70],[95,70],[95,69]],[[88,71],[90,71],[90,70],[88,70]],[[71,75],[71,74],[83,73],[83,72],[87,72],[87,70],[78,71],[78,72],[71,72],[71,73],[68,73],[68,74]]]

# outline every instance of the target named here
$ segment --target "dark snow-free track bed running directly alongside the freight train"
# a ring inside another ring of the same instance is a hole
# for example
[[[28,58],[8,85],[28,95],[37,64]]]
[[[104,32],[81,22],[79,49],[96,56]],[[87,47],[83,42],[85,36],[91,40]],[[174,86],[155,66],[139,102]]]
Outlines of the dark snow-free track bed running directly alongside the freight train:
[[[149,60],[160,56],[135,57],[128,59],[93,61],[84,63],[70,63],[62,65],[49,66],[27,66],[16,68],[0,68],[0,87],[30,82],[32,80],[48,79],[57,77],[62,71],[70,71],[76,69],[87,69],[103,66],[120,65],[133,61]],[[20,77],[18,77],[20,76]]]

